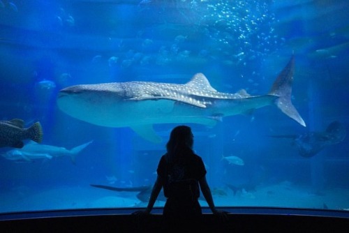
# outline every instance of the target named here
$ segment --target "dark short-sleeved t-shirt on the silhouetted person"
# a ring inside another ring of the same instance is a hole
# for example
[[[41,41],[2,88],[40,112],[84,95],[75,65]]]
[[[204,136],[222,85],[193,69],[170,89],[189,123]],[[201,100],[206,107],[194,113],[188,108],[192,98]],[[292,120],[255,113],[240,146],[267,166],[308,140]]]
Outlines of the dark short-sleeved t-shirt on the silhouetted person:
[[[188,155],[188,160],[184,164],[170,164],[166,155],[161,157],[158,163],[158,176],[163,180],[163,192],[165,197],[173,197],[185,193],[181,188],[188,187],[195,198],[200,196],[199,180],[206,174],[206,169],[202,158],[196,154]]]

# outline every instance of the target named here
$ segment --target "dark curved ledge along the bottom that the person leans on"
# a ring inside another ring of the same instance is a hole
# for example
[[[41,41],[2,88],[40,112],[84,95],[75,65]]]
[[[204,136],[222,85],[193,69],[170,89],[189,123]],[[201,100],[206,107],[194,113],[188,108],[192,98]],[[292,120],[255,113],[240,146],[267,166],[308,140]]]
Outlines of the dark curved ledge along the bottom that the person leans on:
[[[0,232],[346,232],[349,229],[349,213],[345,211],[225,210],[231,212],[225,221],[204,213],[195,225],[186,222],[170,227],[163,220],[162,209],[142,218],[131,215],[135,209],[6,213],[0,216]]]

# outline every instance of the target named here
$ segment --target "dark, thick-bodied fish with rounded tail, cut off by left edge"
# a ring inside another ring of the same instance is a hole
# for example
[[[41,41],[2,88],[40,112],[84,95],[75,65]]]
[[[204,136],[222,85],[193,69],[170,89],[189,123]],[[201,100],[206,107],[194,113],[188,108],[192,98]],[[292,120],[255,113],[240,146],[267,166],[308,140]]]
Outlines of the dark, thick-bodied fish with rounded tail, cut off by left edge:
[[[24,128],[22,119],[0,121],[0,147],[22,148],[23,140],[40,143],[43,140],[43,128],[39,121]]]

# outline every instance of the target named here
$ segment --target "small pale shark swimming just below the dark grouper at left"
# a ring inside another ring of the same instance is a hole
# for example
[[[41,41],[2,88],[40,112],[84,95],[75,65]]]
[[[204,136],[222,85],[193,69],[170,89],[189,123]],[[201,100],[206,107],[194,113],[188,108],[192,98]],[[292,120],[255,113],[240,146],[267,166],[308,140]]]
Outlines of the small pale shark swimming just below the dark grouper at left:
[[[79,154],[86,146],[91,144],[90,142],[75,146],[73,149],[66,149],[59,146],[51,146],[46,144],[38,144],[36,142],[29,142],[25,144],[22,149],[12,149],[2,154],[2,156],[8,160],[15,160],[16,162],[33,162],[34,160],[41,158],[58,158],[63,156],[70,157],[72,163],[75,164],[75,157]]]

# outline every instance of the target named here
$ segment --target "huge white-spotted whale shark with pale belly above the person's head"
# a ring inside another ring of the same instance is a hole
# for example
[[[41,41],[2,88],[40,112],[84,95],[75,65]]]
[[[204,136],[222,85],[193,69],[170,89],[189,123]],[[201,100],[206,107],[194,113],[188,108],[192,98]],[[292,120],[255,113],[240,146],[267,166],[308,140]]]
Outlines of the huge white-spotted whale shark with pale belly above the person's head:
[[[75,119],[98,126],[130,127],[154,143],[162,140],[154,132],[154,124],[215,126],[223,117],[245,114],[267,105],[276,105],[305,127],[306,123],[291,102],[294,60],[292,56],[269,93],[262,96],[251,96],[244,89],[237,93],[218,92],[203,73],[197,73],[186,84],[138,81],[78,84],[61,89],[57,105]]]

